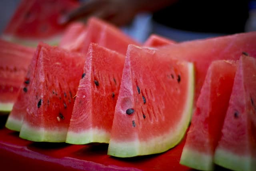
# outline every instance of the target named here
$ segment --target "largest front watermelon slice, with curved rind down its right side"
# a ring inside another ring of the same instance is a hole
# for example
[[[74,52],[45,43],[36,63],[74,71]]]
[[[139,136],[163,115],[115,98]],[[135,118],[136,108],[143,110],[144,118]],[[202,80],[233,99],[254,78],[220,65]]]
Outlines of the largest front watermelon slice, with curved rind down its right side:
[[[177,145],[190,122],[193,95],[192,63],[129,45],[108,155],[148,155]]]

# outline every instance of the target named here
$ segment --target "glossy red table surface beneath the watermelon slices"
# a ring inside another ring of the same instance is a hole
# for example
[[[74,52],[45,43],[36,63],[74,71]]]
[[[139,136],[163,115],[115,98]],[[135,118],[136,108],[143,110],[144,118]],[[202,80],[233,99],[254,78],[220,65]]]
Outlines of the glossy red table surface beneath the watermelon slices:
[[[0,117],[1,171],[192,170],[179,164],[184,139],[179,145],[165,153],[117,158],[107,155],[108,144],[70,145],[21,139],[18,132],[10,131],[4,127],[5,120],[5,117]]]

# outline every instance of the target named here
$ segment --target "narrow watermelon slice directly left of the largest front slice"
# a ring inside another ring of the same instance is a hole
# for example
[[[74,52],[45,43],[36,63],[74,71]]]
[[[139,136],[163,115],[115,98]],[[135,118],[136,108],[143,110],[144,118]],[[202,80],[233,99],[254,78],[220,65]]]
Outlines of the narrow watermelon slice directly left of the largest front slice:
[[[90,44],[67,143],[108,143],[125,56]]]

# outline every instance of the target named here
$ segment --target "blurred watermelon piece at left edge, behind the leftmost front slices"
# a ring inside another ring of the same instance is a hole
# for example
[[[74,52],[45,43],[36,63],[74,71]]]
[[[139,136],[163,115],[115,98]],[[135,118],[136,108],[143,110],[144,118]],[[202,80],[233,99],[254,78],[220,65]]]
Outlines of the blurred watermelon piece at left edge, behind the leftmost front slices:
[[[0,111],[12,110],[33,53],[34,48],[0,40]]]

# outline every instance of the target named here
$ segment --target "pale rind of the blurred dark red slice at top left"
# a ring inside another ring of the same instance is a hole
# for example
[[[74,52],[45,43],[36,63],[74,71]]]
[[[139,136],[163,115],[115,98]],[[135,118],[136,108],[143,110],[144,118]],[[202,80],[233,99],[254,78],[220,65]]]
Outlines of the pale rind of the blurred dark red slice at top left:
[[[2,39],[8,41],[8,42],[14,42],[17,44],[22,44],[24,46],[32,46],[32,47],[36,47],[38,45],[39,42],[45,42],[49,45],[52,46],[57,46],[62,38],[62,35],[55,35],[55,36],[51,36],[49,38],[44,38],[44,39],[32,39],[32,38],[19,38],[16,36],[11,36],[8,34],[3,34],[1,36]]]

